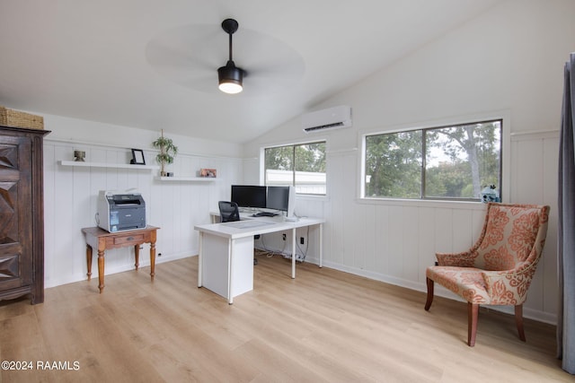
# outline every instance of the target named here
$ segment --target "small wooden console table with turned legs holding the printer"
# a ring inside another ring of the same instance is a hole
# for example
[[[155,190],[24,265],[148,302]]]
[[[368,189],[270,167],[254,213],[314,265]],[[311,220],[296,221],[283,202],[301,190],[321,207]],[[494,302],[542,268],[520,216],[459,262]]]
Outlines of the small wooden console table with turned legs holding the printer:
[[[146,226],[146,229],[135,231],[108,232],[99,227],[84,228],[82,232],[86,239],[86,261],[88,263],[88,281],[92,278],[92,250],[98,251],[98,288],[100,293],[104,290],[104,252],[107,248],[134,247],[134,255],[137,267],[139,266],[140,245],[150,244],[150,277],[154,280],[155,270],[155,239],[158,229],[155,226]]]

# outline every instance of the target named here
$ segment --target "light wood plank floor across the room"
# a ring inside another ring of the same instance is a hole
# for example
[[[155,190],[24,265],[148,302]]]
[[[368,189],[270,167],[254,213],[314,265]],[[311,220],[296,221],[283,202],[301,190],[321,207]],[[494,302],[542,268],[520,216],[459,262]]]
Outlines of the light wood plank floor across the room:
[[[466,305],[317,265],[259,257],[234,305],[197,286],[197,257],[0,304],[2,382],[573,382],[554,327],[482,310],[468,347]],[[37,370],[37,361],[70,369]]]

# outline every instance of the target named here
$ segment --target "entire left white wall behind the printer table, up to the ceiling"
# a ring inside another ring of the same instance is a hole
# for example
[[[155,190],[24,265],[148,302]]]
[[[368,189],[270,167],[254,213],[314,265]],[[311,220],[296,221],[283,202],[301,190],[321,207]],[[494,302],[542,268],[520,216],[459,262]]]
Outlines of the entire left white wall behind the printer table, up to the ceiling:
[[[235,144],[173,138],[179,154],[168,171],[175,176],[195,177],[200,168],[217,169],[213,182],[155,179],[159,170],[68,167],[58,161],[73,161],[74,150],[86,152],[86,161],[127,164],[130,148],[143,149],[146,164],[155,165],[157,151],[151,148],[158,132],[110,126],[74,118],[45,116],[51,130],[44,144],[44,222],[45,285],[85,280],[85,241],[81,229],[95,226],[94,214],[100,190],[126,190],[136,187],[146,202],[147,223],[158,226],[156,262],[198,254],[198,234],[193,226],[209,222],[209,212],[217,211],[217,201],[229,197],[230,185],[243,178],[242,148]],[[232,155],[233,157],[229,157]],[[140,253],[140,265],[149,265],[149,246]],[[96,258],[93,276],[97,279]],[[106,274],[134,268],[133,248],[106,251]],[[156,274],[161,267],[156,268]],[[190,281],[190,286],[192,281]],[[97,286],[97,283],[94,283]]]

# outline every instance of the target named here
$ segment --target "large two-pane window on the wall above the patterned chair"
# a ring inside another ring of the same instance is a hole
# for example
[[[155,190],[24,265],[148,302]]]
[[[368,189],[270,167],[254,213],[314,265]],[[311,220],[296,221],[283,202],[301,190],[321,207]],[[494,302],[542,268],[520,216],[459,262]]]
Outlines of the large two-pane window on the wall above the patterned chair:
[[[501,190],[501,126],[491,120],[365,136],[364,197],[481,199]]]

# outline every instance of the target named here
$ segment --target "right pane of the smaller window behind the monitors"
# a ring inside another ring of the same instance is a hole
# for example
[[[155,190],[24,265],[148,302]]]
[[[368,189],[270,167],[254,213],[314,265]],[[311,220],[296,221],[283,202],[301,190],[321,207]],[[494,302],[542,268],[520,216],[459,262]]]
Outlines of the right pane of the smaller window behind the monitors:
[[[325,194],[325,143],[296,145],[296,193]]]

